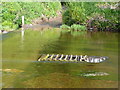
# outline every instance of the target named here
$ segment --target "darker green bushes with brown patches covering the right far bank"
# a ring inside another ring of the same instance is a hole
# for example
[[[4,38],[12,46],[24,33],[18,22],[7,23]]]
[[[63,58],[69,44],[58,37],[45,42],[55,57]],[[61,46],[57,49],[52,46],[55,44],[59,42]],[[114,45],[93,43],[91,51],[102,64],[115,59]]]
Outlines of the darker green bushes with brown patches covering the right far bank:
[[[119,18],[117,2],[68,2],[63,24],[80,24],[97,30],[117,30]]]

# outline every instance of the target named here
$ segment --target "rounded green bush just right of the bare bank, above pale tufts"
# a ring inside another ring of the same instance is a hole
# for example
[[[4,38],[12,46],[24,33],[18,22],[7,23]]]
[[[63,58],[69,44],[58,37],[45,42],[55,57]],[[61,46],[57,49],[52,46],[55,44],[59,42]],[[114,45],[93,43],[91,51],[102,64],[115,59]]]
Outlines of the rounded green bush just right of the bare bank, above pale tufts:
[[[74,23],[85,23],[85,9],[78,3],[69,3],[68,9],[63,13],[63,23],[72,25]]]

